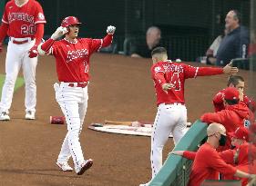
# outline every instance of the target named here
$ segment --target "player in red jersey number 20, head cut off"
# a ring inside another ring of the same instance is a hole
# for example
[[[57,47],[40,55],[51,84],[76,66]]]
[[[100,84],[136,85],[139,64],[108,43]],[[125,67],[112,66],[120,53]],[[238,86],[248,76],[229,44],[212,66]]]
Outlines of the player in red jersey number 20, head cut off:
[[[0,52],[6,34],[10,40],[5,59],[5,83],[0,103],[0,121],[8,121],[15,81],[22,67],[26,83],[26,119],[36,113],[37,45],[44,35],[46,19],[36,0],[11,0],[5,5],[0,27]]]

